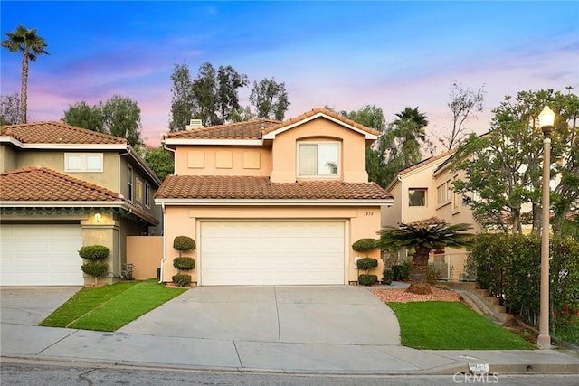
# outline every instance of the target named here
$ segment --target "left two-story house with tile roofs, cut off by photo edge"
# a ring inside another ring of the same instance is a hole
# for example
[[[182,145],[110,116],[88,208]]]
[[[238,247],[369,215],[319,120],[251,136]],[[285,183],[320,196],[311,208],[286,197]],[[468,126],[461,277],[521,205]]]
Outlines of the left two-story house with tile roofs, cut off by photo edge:
[[[125,240],[158,227],[160,181],[125,138],[62,122],[0,127],[2,286],[66,286],[84,278],[79,249],[111,250],[109,277],[126,264]]]

